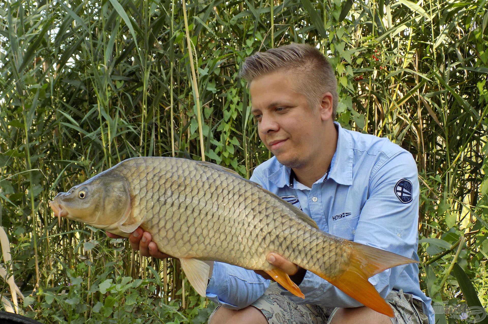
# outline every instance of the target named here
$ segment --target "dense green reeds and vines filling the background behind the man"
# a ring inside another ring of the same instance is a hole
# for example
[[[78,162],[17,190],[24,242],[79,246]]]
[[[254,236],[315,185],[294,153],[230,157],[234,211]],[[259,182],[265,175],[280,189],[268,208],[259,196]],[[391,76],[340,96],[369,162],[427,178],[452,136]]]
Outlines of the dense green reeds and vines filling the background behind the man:
[[[270,155],[236,76],[290,42],[330,57],[344,127],[414,155],[438,323],[463,322],[456,305],[487,308],[487,24],[486,0],[2,1],[3,308],[43,323],[204,323],[214,305],[175,261],[58,225],[47,203],[137,156],[204,152],[249,177]]]

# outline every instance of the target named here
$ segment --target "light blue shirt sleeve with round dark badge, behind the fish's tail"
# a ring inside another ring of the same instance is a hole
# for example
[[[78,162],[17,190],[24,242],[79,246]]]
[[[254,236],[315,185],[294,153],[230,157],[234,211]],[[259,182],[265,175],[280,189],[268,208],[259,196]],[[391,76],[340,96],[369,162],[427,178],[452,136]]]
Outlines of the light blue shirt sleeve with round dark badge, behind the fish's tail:
[[[399,183],[405,184],[406,196],[403,197],[403,201],[402,196],[396,193]],[[409,191],[408,183],[411,185]],[[368,196],[354,232],[354,242],[378,247],[418,261],[418,198],[417,166],[412,155],[402,151],[387,159],[377,170],[373,169],[371,172]],[[406,266],[387,269],[369,278],[369,282],[374,285],[381,297],[385,298]],[[299,287],[305,294],[305,300],[288,291],[282,294],[289,296],[296,304],[320,304],[326,307],[362,306],[310,271],[306,272]]]

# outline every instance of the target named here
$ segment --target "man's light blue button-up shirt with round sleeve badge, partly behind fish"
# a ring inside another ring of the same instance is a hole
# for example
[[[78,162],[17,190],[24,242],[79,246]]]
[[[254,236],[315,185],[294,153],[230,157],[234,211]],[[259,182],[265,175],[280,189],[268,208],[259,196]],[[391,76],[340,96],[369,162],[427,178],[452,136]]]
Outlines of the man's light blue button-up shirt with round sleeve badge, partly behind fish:
[[[290,177],[291,169],[275,157],[260,164],[250,180],[301,208],[327,233],[419,260],[417,165],[410,153],[386,138],[342,128],[329,171],[311,188]],[[371,278],[385,298],[392,290],[424,303],[434,323],[431,299],[419,286],[416,263],[387,269]],[[216,262],[206,296],[231,309],[241,309],[264,294],[269,281],[235,265]],[[305,300],[283,290],[296,304],[357,307],[359,302],[307,271],[299,285]]]

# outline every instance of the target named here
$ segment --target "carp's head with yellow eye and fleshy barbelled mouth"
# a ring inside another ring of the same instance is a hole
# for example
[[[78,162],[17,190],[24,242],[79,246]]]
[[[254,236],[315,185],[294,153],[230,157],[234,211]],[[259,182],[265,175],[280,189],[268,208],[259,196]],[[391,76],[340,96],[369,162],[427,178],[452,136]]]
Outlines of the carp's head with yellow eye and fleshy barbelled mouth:
[[[117,234],[131,211],[127,180],[105,172],[58,193],[49,205],[60,222],[65,217]]]

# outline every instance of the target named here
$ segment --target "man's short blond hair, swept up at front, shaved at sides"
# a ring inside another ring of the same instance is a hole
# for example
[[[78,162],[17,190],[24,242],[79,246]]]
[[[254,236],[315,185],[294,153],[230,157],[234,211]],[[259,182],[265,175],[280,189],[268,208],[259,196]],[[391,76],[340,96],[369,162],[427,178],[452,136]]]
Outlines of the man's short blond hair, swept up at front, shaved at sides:
[[[239,76],[247,82],[272,72],[294,72],[296,91],[303,94],[310,107],[316,107],[324,94],[332,94],[332,116],[337,111],[337,79],[329,61],[308,44],[291,43],[257,52],[246,58]]]

